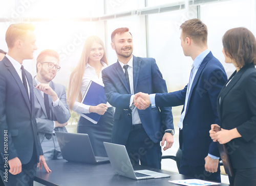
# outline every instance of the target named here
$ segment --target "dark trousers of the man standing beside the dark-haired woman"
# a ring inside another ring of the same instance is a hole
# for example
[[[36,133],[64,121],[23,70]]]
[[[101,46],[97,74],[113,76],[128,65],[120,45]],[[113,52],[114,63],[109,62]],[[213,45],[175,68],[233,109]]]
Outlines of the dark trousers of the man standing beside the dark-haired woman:
[[[218,181],[221,182],[220,175],[220,165],[218,167],[218,171],[215,173],[210,173],[205,170],[204,165],[202,166],[191,166],[189,162],[182,154],[181,157],[181,165],[180,165],[180,174],[184,174],[186,176],[195,177],[196,179],[210,180],[210,181]]]

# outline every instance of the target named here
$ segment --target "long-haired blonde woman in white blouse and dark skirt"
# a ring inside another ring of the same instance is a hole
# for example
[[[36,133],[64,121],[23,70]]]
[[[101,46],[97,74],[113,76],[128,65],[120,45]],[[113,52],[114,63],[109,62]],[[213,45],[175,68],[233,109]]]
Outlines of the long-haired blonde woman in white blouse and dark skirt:
[[[68,89],[69,108],[79,113],[97,113],[102,115],[97,124],[80,116],[77,132],[88,134],[96,156],[107,156],[103,142],[111,142],[114,108],[109,103],[97,106],[81,103],[82,96],[90,81],[102,86],[101,71],[108,67],[106,52],[98,36],[89,36],[84,43],[79,63],[70,75]]]

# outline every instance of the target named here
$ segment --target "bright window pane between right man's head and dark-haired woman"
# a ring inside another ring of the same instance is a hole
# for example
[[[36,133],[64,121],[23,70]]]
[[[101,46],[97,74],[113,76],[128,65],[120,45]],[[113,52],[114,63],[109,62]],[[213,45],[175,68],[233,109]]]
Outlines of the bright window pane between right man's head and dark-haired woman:
[[[256,5],[254,0],[234,0],[200,6],[202,21],[208,27],[208,46],[223,64],[230,76],[235,70],[232,64],[225,64],[222,54],[222,36],[229,29],[245,27],[256,36]]]

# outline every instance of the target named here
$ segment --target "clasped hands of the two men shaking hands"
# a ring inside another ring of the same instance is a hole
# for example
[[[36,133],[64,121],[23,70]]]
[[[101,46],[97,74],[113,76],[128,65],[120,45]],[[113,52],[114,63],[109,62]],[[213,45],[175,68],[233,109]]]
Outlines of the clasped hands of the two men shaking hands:
[[[134,103],[135,107],[137,107],[137,109],[145,110],[151,104],[150,95],[139,92],[139,93],[135,94],[133,103]]]

